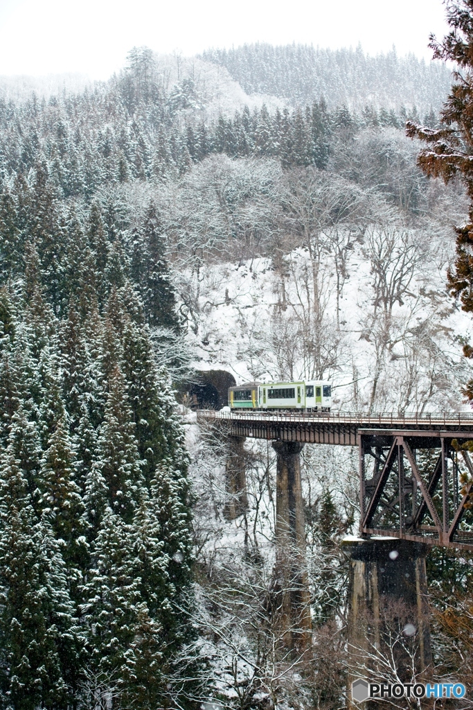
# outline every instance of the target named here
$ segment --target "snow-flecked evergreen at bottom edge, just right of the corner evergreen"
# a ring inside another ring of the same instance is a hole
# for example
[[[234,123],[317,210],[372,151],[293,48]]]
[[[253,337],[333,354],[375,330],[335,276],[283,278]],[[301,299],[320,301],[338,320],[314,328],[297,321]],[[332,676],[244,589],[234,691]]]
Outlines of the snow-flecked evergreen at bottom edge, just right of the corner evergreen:
[[[89,670],[99,679],[96,695],[149,707],[143,701],[152,698],[162,675],[161,629],[140,594],[133,542],[133,528],[106,508],[84,586]]]

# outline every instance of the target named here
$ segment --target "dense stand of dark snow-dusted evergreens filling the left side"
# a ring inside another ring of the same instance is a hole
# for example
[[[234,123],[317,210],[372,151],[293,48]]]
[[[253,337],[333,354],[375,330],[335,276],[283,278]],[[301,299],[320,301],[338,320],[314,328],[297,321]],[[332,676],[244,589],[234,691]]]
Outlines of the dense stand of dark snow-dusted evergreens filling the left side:
[[[159,214],[137,266],[113,205],[66,211],[42,165],[1,200],[0,708],[163,708],[191,543]]]

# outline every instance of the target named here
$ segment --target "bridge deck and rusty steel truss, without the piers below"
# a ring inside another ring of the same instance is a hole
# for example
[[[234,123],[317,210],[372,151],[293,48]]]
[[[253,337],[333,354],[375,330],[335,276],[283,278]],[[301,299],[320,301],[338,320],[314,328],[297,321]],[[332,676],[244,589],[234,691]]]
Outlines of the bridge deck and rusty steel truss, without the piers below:
[[[357,446],[360,534],[473,550],[473,413],[214,412],[227,435]]]

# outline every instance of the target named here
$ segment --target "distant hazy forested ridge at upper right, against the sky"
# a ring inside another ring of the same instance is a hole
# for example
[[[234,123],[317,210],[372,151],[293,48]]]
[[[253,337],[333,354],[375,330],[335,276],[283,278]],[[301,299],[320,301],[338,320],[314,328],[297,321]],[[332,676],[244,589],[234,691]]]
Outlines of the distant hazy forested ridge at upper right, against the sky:
[[[359,46],[328,50],[308,45],[265,43],[230,50],[211,49],[202,57],[226,67],[247,94],[274,94],[293,106],[325,97],[330,108],[345,104],[360,111],[416,106],[425,114],[440,109],[451,84],[442,62],[425,62],[396,50],[370,57]]]

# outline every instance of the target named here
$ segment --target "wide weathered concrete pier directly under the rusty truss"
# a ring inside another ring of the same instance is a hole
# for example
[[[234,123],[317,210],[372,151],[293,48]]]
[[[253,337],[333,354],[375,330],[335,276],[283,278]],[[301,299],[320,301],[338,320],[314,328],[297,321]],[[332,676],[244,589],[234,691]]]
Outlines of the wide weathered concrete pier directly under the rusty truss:
[[[359,677],[398,682],[397,674],[412,682],[432,663],[427,546],[395,537],[355,538],[343,545],[350,557],[349,689]]]

